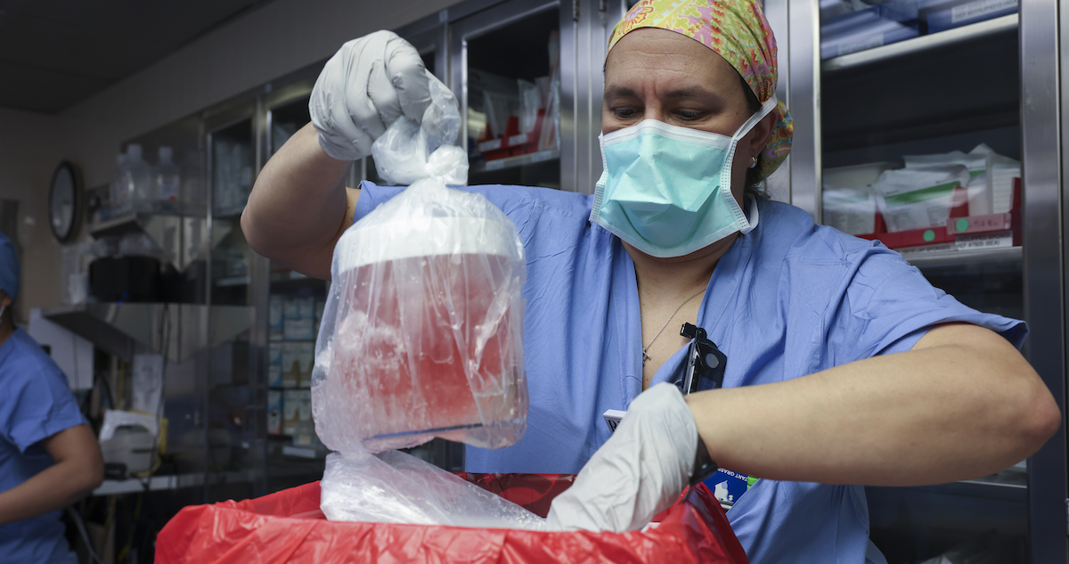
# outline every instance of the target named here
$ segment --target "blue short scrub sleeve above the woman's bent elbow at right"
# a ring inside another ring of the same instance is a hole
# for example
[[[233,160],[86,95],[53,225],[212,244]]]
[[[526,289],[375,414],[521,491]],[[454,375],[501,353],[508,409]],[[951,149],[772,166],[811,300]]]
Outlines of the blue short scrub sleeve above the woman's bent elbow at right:
[[[853,361],[909,350],[928,329],[963,322],[1002,334],[1020,348],[1027,334],[1024,322],[981,313],[932,286],[897,252],[872,247],[861,253],[842,302],[830,325],[830,342]]]

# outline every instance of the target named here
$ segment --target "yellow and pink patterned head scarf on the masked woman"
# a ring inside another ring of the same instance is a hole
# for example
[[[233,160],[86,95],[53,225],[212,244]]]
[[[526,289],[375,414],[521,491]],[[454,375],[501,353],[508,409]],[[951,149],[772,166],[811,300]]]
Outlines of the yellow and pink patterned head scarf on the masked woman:
[[[742,75],[762,104],[776,93],[776,38],[760,0],[642,0],[613,29],[608,49],[639,28],[675,31],[716,51]],[[794,123],[783,100],[774,113],[776,128],[757,162],[762,179],[791,152]]]

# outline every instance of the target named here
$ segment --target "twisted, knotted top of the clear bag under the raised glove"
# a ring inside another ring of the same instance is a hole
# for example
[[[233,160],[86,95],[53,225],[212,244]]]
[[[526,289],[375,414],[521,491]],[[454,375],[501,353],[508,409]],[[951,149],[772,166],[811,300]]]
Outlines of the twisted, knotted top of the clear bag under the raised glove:
[[[400,118],[371,145],[378,175],[391,185],[410,185],[438,178],[448,186],[467,184],[464,150],[452,144],[461,128],[456,98],[437,79],[431,79],[431,105],[421,124]]]

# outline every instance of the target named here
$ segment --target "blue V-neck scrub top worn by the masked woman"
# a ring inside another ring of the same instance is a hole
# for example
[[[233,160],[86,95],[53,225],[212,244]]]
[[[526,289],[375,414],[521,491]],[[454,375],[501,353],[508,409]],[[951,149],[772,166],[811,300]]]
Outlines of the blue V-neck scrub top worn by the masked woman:
[[[361,185],[356,219],[401,188]],[[606,409],[642,390],[634,264],[620,240],[590,223],[591,195],[517,186],[484,194],[520,230],[527,253],[524,360],[527,432],[515,445],[467,448],[470,472],[575,473],[609,437]],[[754,209],[750,205],[749,215]],[[1020,346],[1022,322],[979,313],[932,287],[878,241],[817,225],[794,206],[758,200],[758,225],[721,258],[698,326],[728,358],[725,387],[797,378],[909,350],[938,324],[966,322]],[[654,376],[665,381],[681,349]],[[759,480],[728,511],[752,562],[881,562],[870,551],[862,486]]]

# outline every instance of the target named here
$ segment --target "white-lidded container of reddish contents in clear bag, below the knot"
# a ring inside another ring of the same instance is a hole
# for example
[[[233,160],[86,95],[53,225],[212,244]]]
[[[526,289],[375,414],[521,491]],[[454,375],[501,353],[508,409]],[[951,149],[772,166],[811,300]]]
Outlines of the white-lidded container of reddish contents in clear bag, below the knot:
[[[523,436],[524,249],[500,209],[418,182],[342,235],[330,275],[312,374],[324,444],[494,449]]]

